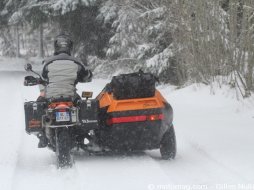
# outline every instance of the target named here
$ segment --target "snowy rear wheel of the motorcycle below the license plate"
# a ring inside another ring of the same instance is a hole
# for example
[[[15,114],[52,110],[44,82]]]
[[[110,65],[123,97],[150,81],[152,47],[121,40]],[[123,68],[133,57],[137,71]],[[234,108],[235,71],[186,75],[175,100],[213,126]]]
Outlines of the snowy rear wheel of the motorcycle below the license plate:
[[[67,128],[56,129],[57,167],[71,167],[71,137]]]

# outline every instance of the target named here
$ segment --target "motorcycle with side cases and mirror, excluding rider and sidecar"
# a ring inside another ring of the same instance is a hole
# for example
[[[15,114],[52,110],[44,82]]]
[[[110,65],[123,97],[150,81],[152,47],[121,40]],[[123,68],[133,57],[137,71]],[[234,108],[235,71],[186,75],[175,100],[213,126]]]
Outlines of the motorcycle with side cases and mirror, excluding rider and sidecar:
[[[38,76],[26,76],[25,86],[47,85],[31,64],[27,64],[25,70]],[[92,92],[83,92],[85,99],[57,97],[25,102],[26,132],[46,138],[46,146],[56,153],[58,167],[73,164],[73,148],[88,151],[93,146],[99,106],[97,100],[91,99],[92,95]]]

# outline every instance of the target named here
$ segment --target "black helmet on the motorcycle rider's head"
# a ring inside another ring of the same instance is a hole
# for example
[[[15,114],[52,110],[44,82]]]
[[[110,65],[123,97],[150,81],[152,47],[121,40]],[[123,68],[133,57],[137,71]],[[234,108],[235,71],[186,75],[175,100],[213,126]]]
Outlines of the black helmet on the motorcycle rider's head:
[[[68,55],[71,55],[72,47],[73,42],[71,41],[70,36],[66,34],[60,34],[56,37],[54,42],[54,54],[57,55],[59,53],[67,53]]]

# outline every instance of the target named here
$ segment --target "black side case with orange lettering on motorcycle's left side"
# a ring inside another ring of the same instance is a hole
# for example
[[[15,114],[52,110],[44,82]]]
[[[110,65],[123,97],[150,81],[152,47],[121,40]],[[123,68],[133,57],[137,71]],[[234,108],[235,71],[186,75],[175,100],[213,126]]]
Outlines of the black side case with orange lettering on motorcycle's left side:
[[[45,115],[46,103],[25,102],[25,122],[28,134],[42,131],[42,116]]]

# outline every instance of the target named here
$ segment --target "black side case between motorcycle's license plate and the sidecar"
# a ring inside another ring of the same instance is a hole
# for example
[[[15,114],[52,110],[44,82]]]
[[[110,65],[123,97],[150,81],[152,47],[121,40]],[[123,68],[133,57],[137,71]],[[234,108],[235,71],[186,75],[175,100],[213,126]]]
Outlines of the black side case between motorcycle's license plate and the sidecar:
[[[84,129],[98,129],[99,101],[96,99],[82,100],[79,107],[79,121]]]

